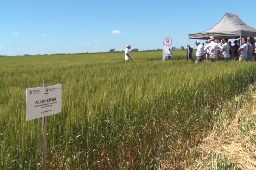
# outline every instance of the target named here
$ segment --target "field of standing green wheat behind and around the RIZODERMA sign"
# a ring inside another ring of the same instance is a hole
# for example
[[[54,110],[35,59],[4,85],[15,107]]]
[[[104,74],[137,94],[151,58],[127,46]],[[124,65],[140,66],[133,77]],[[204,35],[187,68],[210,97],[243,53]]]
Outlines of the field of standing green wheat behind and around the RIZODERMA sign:
[[[25,121],[25,89],[45,79],[62,84],[62,112],[48,117],[49,169],[175,169],[211,130],[214,110],[256,78],[255,62],[131,55],[0,58],[0,169],[42,168],[41,119]]]

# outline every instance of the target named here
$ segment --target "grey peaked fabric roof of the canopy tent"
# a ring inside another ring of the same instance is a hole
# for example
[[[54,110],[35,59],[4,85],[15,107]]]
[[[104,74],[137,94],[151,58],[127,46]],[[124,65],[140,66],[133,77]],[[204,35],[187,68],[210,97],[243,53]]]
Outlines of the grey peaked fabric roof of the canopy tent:
[[[190,39],[209,39],[213,37],[256,37],[256,29],[246,25],[236,14],[225,13],[219,23],[211,27],[211,29],[199,33],[189,34]]]

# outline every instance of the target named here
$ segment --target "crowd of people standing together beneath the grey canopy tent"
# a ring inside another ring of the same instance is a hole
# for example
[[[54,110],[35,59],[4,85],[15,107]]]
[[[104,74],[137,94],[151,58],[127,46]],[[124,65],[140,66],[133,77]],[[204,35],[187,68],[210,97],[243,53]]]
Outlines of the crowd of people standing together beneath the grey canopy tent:
[[[218,60],[221,61],[255,61],[255,39],[254,38],[241,38],[235,40],[234,45],[231,41],[228,41],[228,38],[214,38],[211,36],[207,41],[206,45],[201,44],[200,40],[197,40],[195,45],[197,45],[196,51],[196,61],[195,63],[200,63],[203,61],[215,62]],[[186,49],[187,59],[193,60],[193,51],[190,51],[189,45]]]

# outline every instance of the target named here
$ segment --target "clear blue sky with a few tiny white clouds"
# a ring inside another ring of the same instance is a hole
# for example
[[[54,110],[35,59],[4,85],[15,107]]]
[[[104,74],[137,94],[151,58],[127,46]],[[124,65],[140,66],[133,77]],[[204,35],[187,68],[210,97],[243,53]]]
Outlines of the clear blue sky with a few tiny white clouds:
[[[256,1],[2,0],[0,55],[186,47],[188,34],[214,26],[225,12],[256,27]],[[190,40],[194,44],[194,40]],[[193,46],[192,46],[193,47]]]

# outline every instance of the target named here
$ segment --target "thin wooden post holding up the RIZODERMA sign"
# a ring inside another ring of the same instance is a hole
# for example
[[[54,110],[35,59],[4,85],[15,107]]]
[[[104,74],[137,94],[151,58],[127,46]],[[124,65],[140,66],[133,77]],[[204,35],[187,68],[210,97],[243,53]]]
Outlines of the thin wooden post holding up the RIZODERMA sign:
[[[48,80],[43,80],[43,87],[48,86]],[[42,133],[43,133],[43,152],[42,152],[42,167],[48,170],[47,165],[47,116],[42,117]]]

